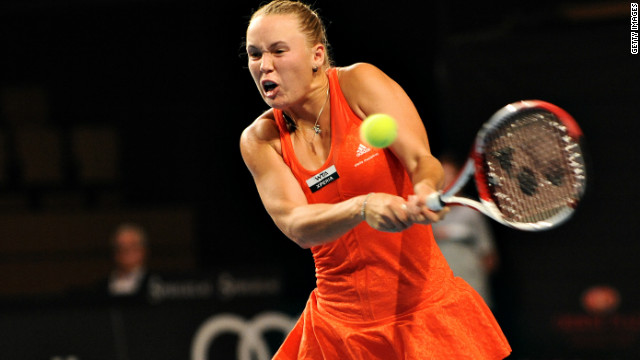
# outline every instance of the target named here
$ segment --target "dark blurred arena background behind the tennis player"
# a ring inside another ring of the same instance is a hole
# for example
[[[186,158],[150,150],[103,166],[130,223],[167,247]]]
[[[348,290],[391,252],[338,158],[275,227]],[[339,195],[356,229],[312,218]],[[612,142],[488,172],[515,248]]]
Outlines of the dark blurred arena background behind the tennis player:
[[[398,81],[436,155],[465,156],[479,126],[517,100],[546,100],[578,120],[585,199],[552,231],[493,224],[494,311],[513,359],[640,358],[630,3],[314,4],[336,64],[371,62]],[[301,311],[311,255],[273,225],[238,148],[266,109],[243,56],[258,5],[0,4],[2,358],[186,359],[216,314]],[[78,301],[108,274],[108,237],[123,221],[147,229],[164,295],[123,308]],[[212,290],[187,291],[194,284]],[[611,306],[590,307],[594,291]],[[238,338],[220,337],[211,354],[236,358]]]

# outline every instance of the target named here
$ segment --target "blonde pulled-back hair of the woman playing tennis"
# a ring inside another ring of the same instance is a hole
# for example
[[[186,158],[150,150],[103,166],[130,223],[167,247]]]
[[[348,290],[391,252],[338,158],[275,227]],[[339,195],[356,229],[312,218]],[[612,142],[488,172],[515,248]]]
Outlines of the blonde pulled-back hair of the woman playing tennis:
[[[329,41],[327,40],[327,32],[325,26],[316,11],[311,9],[307,4],[299,1],[291,0],[273,0],[262,5],[251,15],[249,23],[256,18],[264,15],[294,15],[300,23],[300,30],[306,35],[307,41],[311,45],[322,44],[325,48],[324,64],[332,66],[332,60],[329,55]]]

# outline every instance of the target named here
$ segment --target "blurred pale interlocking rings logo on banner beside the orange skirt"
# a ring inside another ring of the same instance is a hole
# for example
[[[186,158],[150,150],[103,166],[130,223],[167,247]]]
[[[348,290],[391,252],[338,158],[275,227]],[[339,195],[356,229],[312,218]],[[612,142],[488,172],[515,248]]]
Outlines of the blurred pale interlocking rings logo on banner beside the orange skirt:
[[[252,320],[245,320],[234,314],[219,314],[205,321],[191,343],[191,360],[211,360],[207,358],[209,347],[222,334],[238,335],[237,360],[269,360],[273,354],[264,340],[267,331],[281,331],[286,336],[296,323],[296,319],[277,312],[258,314]]]

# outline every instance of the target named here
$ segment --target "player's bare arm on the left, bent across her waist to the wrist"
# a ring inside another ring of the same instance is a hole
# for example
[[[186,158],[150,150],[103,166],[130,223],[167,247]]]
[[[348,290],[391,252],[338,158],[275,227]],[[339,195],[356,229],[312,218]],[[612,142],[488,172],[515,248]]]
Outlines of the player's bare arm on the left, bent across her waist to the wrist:
[[[362,222],[365,196],[337,204],[309,204],[282,159],[275,121],[267,112],[242,133],[240,150],[276,226],[300,247],[333,241]],[[400,199],[402,200],[402,199]],[[399,208],[402,201],[398,201]]]

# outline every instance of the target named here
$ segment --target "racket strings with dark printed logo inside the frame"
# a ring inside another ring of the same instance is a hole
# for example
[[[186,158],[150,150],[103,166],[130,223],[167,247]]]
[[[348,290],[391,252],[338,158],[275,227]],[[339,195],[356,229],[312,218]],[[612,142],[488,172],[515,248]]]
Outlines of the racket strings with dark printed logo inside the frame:
[[[542,109],[516,113],[485,141],[491,198],[512,222],[535,223],[571,212],[584,188],[580,147]]]

